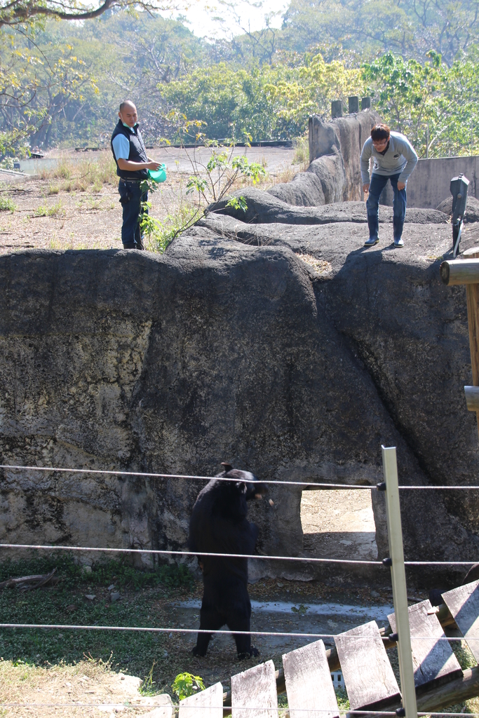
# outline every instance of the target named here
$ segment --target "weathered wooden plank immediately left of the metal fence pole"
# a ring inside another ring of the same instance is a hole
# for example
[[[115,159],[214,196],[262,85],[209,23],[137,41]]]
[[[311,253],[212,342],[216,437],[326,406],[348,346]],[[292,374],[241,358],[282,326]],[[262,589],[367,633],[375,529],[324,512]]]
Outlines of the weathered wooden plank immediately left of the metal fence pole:
[[[352,710],[385,708],[401,696],[376,621],[335,636]]]

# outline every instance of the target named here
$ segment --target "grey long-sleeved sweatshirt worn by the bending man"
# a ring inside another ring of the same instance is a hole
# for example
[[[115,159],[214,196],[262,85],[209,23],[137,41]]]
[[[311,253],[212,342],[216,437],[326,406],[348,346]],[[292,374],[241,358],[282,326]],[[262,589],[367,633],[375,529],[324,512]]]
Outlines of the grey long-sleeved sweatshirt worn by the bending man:
[[[412,170],[416,167],[417,154],[409,139],[400,132],[391,132],[389,147],[386,154],[376,151],[373,147],[373,139],[369,137],[361,152],[361,177],[363,185],[369,184],[369,158],[373,157],[372,174],[383,174],[389,177],[390,174],[399,175],[398,182],[407,182]]]

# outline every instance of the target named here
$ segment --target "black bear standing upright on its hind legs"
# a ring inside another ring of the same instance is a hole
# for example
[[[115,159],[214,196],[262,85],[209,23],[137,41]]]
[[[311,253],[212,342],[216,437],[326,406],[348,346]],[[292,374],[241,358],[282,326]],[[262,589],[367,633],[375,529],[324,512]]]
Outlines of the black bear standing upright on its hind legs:
[[[264,484],[248,471],[223,463],[223,473],[198,494],[190,518],[191,551],[198,554],[203,571],[203,601],[200,630],[249,631],[251,602],[248,596],[248,559],[202,556],[205,554],[253,554],[258,527],[246,520],[247,501],[267,492]],[[218,481],[220,478],[232,481]],[[210,633],[198,633],[195,656],[205,656]],[[239,658],[258,656],[250,635],[233,633]]]

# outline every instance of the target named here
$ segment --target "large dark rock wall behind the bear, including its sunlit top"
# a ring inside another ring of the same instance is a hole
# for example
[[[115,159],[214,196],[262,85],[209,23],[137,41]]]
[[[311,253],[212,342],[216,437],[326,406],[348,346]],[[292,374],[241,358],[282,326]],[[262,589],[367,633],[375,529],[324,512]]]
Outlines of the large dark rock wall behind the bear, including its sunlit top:
[[[476,482],[465,292],[439,281],[450,225],[409,223],[394,251],[386,224],[365,250],[353,205],[330,225],[210,215],[164,256],[2,257],[3,462],[212,475],[231,460],[261,480],[373,485],[382,443],[405,484]],[[201,485],[3,471],[0,541],[177,549]],[[301,553],[300,489],[269,498],[251,507],[260,550]],[[406,556],[477,558],[475,495],[402,500]]]

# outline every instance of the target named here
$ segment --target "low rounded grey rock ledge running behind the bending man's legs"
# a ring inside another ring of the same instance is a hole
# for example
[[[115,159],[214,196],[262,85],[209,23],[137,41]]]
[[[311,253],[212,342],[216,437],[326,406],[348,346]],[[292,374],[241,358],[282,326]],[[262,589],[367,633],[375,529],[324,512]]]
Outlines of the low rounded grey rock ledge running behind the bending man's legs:
[[[292,182],[291,184],[294,184]],[[292,207],[287,202],[282,202],[277,197],[272,197],[269,192],[256,190],[254,187],[246,187],[244,190],[233,192],[235,197],[244,197],[248,206],[246,212],[236,210],[233,207],[226,207],[227,199],[216,202],[208,208],[209,213],[220,213],[229,215],[242,222],[266,224],[270,222],[315,225],[330,224],[338,222],[367,222],[366,205],[364,202],[337,202],[334,205],[328,204],[322,207]],[[381,207],[379,210],[379,221],[381,223],[392,222],[393,210],[391,207]],[[412,208],[406,211],[406,222],[415,224],[445,224],[447,215],[438,210],[422,210]]]

